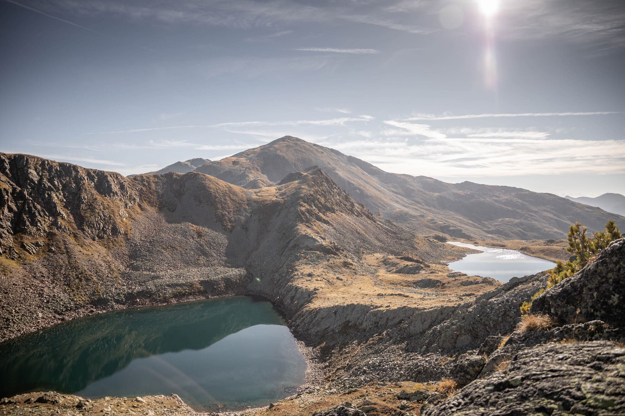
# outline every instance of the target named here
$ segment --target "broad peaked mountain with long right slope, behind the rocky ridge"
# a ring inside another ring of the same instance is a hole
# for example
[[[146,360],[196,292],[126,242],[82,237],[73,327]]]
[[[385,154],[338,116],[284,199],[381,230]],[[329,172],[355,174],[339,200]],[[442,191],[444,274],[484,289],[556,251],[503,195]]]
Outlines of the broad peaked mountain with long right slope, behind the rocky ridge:
[[[427,176],[385,172],[356,157],[292,136],[207,162],[194,171],[258,189],[311,166],[319,166],[372,212],[420,235],[551,239],[564,237],[569,224],[576,221],[589,230],[602,229],[610,219],[625,224],[621,215],[554,194],[473,182],[449,184]]]

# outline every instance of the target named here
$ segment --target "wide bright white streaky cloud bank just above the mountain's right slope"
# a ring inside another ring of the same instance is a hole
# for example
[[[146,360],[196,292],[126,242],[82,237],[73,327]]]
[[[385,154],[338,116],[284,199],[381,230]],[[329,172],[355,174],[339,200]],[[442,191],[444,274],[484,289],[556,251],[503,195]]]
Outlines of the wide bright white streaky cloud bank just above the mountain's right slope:
[[[376,161],[382,169],[434,177],[625,172],[625,141],[552,139],[548,132],[490,127],[434,131],[428,124],[396,120],[384,124],[389,127],[382,127],[379,136],[385,139],[354,140],[339,147],[354,149],[354,156]]]

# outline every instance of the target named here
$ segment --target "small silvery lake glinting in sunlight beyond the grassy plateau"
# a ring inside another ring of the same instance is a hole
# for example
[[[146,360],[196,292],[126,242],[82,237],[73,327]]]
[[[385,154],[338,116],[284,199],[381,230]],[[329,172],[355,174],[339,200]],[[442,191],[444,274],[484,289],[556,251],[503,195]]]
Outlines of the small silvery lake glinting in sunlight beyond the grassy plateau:
[[[508,282],[512,277],[536,274],[556,267],[554,262],[532,257],[516,250],[482,247],[461,242],[449,242],[449,244],[482,251],[449,263],[449,269],[471,276],[492,277],[499,282]]]

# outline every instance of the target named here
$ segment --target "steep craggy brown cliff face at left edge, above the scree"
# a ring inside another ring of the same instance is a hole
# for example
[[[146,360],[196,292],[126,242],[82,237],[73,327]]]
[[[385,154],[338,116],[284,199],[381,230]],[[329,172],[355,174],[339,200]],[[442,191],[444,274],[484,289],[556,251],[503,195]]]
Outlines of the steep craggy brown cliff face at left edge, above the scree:
[[[126,210],[136,203],[120,174],[0,153],[0,253],[16,257],[13,235],[45,237],[51,229],[80,230],[90,239],[118,237],[128,231]],[[34,254],[41,245],[23,247]]]

